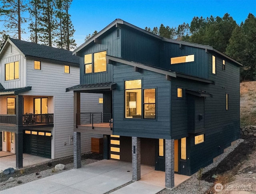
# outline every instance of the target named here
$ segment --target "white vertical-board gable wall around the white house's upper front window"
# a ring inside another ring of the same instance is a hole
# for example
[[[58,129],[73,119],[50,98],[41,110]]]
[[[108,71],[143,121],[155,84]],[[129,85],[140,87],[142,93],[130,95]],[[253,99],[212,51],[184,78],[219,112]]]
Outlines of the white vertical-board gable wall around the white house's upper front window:
[[[19,51],[8,43],[2,51],[0,63],[0,83],[5,89],[18,88],[26,86],[26,59],[19,53]],[[19,79],[5,81],[5,64],[19,61]]]

